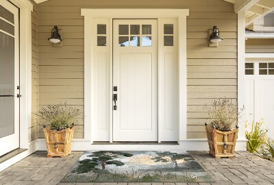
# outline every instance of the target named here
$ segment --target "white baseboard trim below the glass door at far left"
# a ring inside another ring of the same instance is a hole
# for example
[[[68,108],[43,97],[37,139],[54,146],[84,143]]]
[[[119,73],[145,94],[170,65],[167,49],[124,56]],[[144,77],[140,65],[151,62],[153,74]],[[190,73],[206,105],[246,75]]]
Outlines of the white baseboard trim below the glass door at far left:
[[[0,171],[3,171],[4,169],[12,166],[12,164],[15,164],[16,162],[23,160],[23,158],[29,156],[30,154],[34,153],[35,151],[37,151],[37,139],[36,140],[32,140],[29,143],[29,149],[27,149],[26,151],[23,151],[22,153],[18,153],[16,156],[6,160],[5,162],[2,162],[0,164]]]

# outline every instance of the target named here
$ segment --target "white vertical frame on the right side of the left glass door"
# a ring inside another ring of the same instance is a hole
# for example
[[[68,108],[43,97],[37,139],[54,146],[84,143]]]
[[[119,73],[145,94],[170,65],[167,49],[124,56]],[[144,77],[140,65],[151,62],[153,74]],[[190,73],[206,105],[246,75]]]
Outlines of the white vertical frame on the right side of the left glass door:
[[[10,0],[19,8],[20,27],[20,148],[29,149],[32,125],[32,10],[28,0]]]

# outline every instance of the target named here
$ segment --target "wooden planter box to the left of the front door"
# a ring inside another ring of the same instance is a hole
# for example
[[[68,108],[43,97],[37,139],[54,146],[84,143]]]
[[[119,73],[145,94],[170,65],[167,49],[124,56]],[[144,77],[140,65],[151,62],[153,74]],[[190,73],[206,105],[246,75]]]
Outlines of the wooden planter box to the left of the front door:
[[[44,128],[47,145],[47,158],[69,156],[71,153],[71,141],[75,126],[65,130],[56,131]]]

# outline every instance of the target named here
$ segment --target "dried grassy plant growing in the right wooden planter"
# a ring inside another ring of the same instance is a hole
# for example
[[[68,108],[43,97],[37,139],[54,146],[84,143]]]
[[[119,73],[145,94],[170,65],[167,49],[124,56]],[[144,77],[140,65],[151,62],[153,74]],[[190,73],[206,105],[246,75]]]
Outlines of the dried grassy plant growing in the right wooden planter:
[[[243,109],[238,111],[238,105],[232,99],[215,99],[211,104],[206,104],[210,125],[217,130],[228,131],[238,127],[238,120]]]

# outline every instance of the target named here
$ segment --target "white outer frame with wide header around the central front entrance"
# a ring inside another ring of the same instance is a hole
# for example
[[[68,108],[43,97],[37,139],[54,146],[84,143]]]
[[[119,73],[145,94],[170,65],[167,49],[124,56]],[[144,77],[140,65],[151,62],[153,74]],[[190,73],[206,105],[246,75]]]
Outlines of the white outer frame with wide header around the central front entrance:
[[[178,63],[179,63],[179,140],[186,139],[186,16],[188,9],[81,9],[84,16],[84,138],[93,143],[92,135],[95,132],[96,113],[96,84],[92,77],[92,19],[109,18],[177,18],[178,19]],[[112,61],[112,36],[110,36],[110,60]],[[158,59],[160,59],[158,53]],[[111,66],[112,67],[112,66]],[[111,98],[112,95],[110,95]],[[112,123],[112,120],[110,120]],[[160,121],[159,121],[160,122]],[[160,127],[160,125],[158,125]],[[112,130],[112,127],[110,127]],[[111,133],[112,134],[112,133]],[[112,137],[110,137],[112,142]]]

